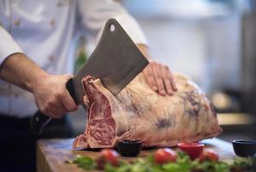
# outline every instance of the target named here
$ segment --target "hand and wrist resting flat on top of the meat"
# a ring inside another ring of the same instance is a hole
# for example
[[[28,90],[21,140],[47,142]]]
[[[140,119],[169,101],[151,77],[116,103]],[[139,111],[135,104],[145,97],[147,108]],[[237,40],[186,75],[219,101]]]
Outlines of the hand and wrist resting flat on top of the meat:
[[[151,89],[158,92],[159,95],[173,95],[173,92],[178,89],[172,77],[172,71],[167,65],[151,60],[147,46],[138,45],[138,47],[150,62],[144,69],[143,74]]]

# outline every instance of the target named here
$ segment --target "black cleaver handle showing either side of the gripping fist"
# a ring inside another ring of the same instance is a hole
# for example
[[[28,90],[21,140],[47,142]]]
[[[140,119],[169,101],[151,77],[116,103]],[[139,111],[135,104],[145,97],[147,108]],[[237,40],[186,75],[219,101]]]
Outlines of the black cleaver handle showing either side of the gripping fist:
[[[72,96],[72,99],[78,105],[75,90],[73,88],[72,78],[70,78],[66,82],[66,89],[68,90],[69,94]],[[41,134],[43,129],[52,119],[48,117],[46,114],[43,114],[40,110],[38,110],[30,120],[30,127],[33,132],[36,134]]]

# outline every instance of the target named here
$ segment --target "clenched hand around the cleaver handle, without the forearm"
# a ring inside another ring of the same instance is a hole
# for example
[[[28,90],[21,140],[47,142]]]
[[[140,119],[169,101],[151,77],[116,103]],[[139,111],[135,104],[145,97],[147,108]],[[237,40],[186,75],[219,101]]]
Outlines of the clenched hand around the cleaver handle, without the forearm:
[[[67,112],[76,111],[78,106],[66,89],[72,75],[46,75],[35,82],[32,93],[37,107],[51,118],[60,118]]]

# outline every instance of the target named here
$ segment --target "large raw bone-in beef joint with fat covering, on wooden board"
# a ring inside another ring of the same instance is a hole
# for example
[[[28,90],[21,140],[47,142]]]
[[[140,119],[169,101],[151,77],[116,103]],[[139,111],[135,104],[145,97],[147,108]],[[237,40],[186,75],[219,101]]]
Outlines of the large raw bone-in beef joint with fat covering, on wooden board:
[[[183,75],[174,77],[178,91],[172,96],[154,92],[140,74],[116,97],[99,79],[84,77],[88,120],[73,148],[112,148],[123,139],[140,139],[144,147],[173,146],[213,138],[222,132],[197,85]]]

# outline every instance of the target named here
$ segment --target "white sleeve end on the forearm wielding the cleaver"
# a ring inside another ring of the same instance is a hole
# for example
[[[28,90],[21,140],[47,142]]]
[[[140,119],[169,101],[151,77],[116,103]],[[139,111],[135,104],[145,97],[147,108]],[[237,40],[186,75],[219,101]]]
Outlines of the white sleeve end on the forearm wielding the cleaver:
[[[0,65],[3,64],[5,58],[17,52],[23,52],[22,48],[17,45],[11,35],[0,26]]]

